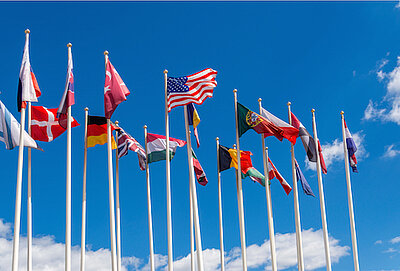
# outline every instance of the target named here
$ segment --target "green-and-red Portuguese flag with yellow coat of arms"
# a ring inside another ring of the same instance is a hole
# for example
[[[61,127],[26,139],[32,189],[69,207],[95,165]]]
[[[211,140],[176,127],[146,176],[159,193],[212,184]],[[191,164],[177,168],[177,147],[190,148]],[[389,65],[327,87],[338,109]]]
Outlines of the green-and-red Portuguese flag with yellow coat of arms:
[[[253,129],[258,134],[274,135],[283,138],[284,131],[271,121],[237,103],[239,137],[247,130]],[[282,140],[282,139],[280,139]]]

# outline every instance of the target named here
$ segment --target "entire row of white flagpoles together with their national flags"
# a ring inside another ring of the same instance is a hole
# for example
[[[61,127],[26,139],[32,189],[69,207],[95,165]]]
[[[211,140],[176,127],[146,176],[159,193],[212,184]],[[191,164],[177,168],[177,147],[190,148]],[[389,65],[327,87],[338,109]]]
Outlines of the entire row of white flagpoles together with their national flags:
[[[23,61],[20,71],[20,82],[18,87],[18,109],[21,112],[21,124],[14,119],[11,113],[0,102],[0,120],[3,136],[0,140],[5,142],[7,149],[19,146],[18,170],[17,170],[17,189],[15,203],[15,220],[14,220],[14,238],[13,238],[13,257],[12,270],[18,270],[18,252],[19,252],[19,236],[20,236],[20,217],[21,217],[21,190],[22,190],[22,169],[23,169],[23,150],[24,146],[28,148],[28,213],[27,213],[27,269],[32,270],[32,204],[31,204],[31,148],[40,149],[35,140],[52,141],[55,137],[67,131],[67,165],[66,165],[66,227],[65,227],[65,271],[71,270],[71,128],[79,125],[71,115],[71,106],[74,100],[74,75],[72,64],[72,45],[68,47],[68,70],[67,80],[64,94],[61,99],[58,110],[47,109],[45,107],[32,106],[31,102],[37,102],[37,97],[41,95],[36,78],[32,71],[29,60],[29,30],[25,31],[25,48]],[[204,270],[204,261],[202,253],[200,219],[197,204],[197,181],[205,185],[207,179],[205,173],[195,156],[192,143],[191,131],[189,126],[193,126],[193,133],[196,137],[197,146],[199,147],[199,138],[197,134],[197,125],[200,122],[197,111],[193,103],[202,104],[208,97],[212,97],[213,89],[217,83],[215,77],[217,72],[213,69],[205,69],[198,73],[185,77],[168,77],[168,71],[164,71],[165,83],[165,136],[150,134],[147,126],[144,126],[145,148],[143,148],[133,137],[127,134],[118,122],[113,124],[111,116],[118,104],[125,101],[130,94],[125,86],[122,78],[111,64],[108,58],[108,52],[105,55],[106,80],[104,87],[104,107],[105,117],[90,116],[88,108],[85,109],[85,150],[84,150],[84,167],[83,167],[83,194],[82,194],[82,232],[81,232],[81,271],[85,270],[85,247],[86,247],[86,175],[87,175],[87,148],[96,144],[105,144],[107,142],[108,154],[108,177],[109,177],[109,214],[110,214],[110,240],[111,240],[111,263],[113,271],[121,271],[121,211],[119,201],[119,159],[127,154],[128,150],[135,151],[138,154],[139,165],[146,172],[147,185],[147,205],[148,205],[148,229],[149,229],[149,262],[150,270],[155,270],[154,261],[154,240],[152,228],[152,212],[151,212],[151,192],[150,192],[150,173],[149,163],[165,160],[166,161],[166,193],[167,193],[167,239],[168,239],[168,270],[173,270],[173,239],[172,239],[172,206],[171,206],[171,180],[170,180],[170,160],[177,147],[187,146],[188,164],[189,164],[189,198],[190,198],[190,235],[191,235],[191,270],[195,270],[195,255],[197,258],[197,270]],[[235,123],[236,123],[236,145],[235,148],[229,149],[220,145],[219,138],[217,141],[217,165],[218,165],[218,210],[219,210],[219,232],[220,232],[220,261],[221,271],[225,270],[224,259],[224,241],[223,241],[223,225],[222,225],[222,191],[221,191],[221,172],[235,167],[236,169],[236,186],[239,212],[239,228],[241,241],[241,255],[243,270],[247,270],[246,255],[246,236],[245,236],[245,218],[243,208],[243,189],[242,178],[250,177],[253,181],[259,182],[265,186],[267,214],[268,214],[268,231],[270,238],[270,257],[272,270],[277,270],[276,246],[274,222],[272,214],[271,190],[269,183],[271,179],[277,178],[283,186],[287,194],[292,188],[280,175],[269,158],[268,148],[265,146],[265,138],[275,136],[280,141],[284,138],[291,143],[291,160],[292,160],[292,177],[293,177],[293,197],[294,197],[294,213],[296,228],[296,247],[297,247],[297,264],[298,270],[304,270],[303,249],[301,239],[301,222],[300,208],[298,200],[297,182],[300,180],[304,192],[314,196],[311,188],[305,180],[300,167],[297,164],[294,154],[294,144],[297,137],[300,137],[308,159],[316,162],[319,199],[321,209],[321,220],[323,228],[323,239],[325,248],[326,269],[331,270],[331,259],[329,251],[329,236],[327,229],[325,199],[322,182],[322,173],[326,174],[326,167],[322,157],[322,150],[317,136],[317,127],[315,120],[315,110],[312,110],[313,137],[307,132],[301,122],[295,117],[291,111],[291,103],[288,103],[289,123],[275,117],[262,107],[261,98],[259,102],[260,114],[257,114],[238,102],[237,90],[234,90],[234,107],[235,107]],[[186,142],[171,138],[169,135],[169,115],[168,113],[175,107],[184,106]],[[28,133],[25,132],[25,112],[28,109]],[[38,112],[48,116],[47,122],[39,120]],[[57,113],[57,117],[54,114]],[[36,115],[35,115],[36,114]],[[35,115],[33,117],[33,115]],[[50,134],[48,127],[50,118],[53,122],[57,121],[58,126],[52,130],[50,125]],[[357,238],[354,222],[353,200],[350,182],[350,167],[357,172],[356,158],[354,153],[357,148],[351,137],[349,129],[344,120],[344,113],[341,112],[342,132],[343,132],[343,148],[347,181],[348,205],[351,226],[352,248],[354,270],[359,270]],[[8,121],[7,121],[8,120]],[[10,121],[11,120],[11,121]],[[44,124],[43,124],[44,123]],[[42,125],[42,126],[41,126]],[[35,129],[34,129],[35,127]],[[46,132],[40,129],[46,127]],[[94,127],[94,128],[93,128]],[[263,154],[264,175],[258,172],[251,163],[248,151],[241,151],[240,137],[249,129],[261,135],[261,148]],[[17,132],[19,130],[19,133]],[[115,143],[112,131],[115,130],[118,144]],[[105,140],[106,139],[106,140]],[[114,191],[114,167],[112,150],[116,149],[116,186]],[[164,155],[165,152],[165,156]],[[115,198],[114,198],[115,195]],[[194,248],[196,247],[196,253]]]

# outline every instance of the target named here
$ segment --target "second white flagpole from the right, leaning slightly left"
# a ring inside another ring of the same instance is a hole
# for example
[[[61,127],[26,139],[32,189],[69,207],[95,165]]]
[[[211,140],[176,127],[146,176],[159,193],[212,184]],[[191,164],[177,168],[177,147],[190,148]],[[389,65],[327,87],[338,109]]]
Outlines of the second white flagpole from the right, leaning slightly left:
[[[321,164],[318,151],[318,135],[317,135],[317,124],[315,121],[315,109],[311,110],[313,115],[313,132],[314,132],[314,142],[315,142],[315,152],[317,154],[317,176],[318,176],[318,188],[319,188],[319,204],[321,206],[321,219],[322,219],[322,230],[324,234],[324,246],[325,246],[325,261],[326,270],[331,271],[331,254],[329,250],[329,236],[328,236],[328,225],[326,223],[326,211],[325,211],[325,196],[324,196],[324,186],[322,184],[322,173]]]

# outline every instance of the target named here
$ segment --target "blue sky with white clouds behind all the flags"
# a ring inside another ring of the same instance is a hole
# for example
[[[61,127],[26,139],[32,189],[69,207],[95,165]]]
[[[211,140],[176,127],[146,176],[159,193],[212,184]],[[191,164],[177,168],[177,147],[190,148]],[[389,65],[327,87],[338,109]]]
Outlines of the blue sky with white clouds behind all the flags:
[[[258,110],[257,99],[271,113],[287,120],[287,102],[311,132],[311,109],[316,109],[320,141],[328,163],[324,176],[328,231],[333,268],[353,266],[347,207],[340,111],[359,145],[359,173],[352,174],[353,198],[362,270],[394,270],[400,266],[400,9],[396,2],[221,2],[221,3],[0,3],[2,84],[0,99],[19,119],[16,109],[18,74],[24,30],[31,30],[31,64],[42,90],[40,105],[57,107],[67,71],[67,47],[74,60],[76,104],[81,123],[72,132],[72,242],[79,262],[84,108],[103,115],[104,50],[131,91],[113,115],[143,143],[143,126],[165,133],[163,70],[184,76],[211,67],[218,71],[214,97],[197,110],[201,117],[201,147],[196,154],[209,184],[197,187],[203,248],[209,270],[218,264],[218,195],[215,138],[235,143],[233,93]],[[183,108],[170,114],[170,134],[185,139]],[[270,156],[292,184],[290,145],[266,140]],[[63,266],[65,231],[66,136],[40,143],[33,151],[33,232],[36,270],[50,262]],[[241,147],[253,152],[262,170],[260,136],[249,131]],[[0,270],[11,263],[18,151],[2,147],[0,189]],[[305,162],[301,144],[296,158],[314,193],[317,176]],[[109,211],[105,146],[88,150],[87,243],[88,270],[107,270]],[[150,166],[155,252],[165,266],[165,163]],[[146,270],[148,232],[145,174],[136,154],[120,160],[122,250],[126,270]],[[189,196],[186,149],[171,163],[174,258],[177,270],[188,270]],[[229,270],[240,270],[240,247],[234,171],[222,174],[225,250]],[[26,174],[23,185],[21,233],[26,236]],[[277,181],[271,185],[278,265],[296,270],[293,195]],[[265,270],[269,257],[265,190],[243,181],[250,270]],[[318,198],[299,193],[307,269],[324,270]],[[396,239],[397,237],[397,239]],[[21,239],[22,248],[25,246]],[[43,251],[46,251],[44,253]],[[52,253],[49,253],[51,251]],[[321,253],[320,253],[321,252]],[[45,254],[45,255],[43,255]],[[265,256],[265,257],[264,257]],[[103,262],[104,264],[103,264]],[[21,264],[25,262],[21,254]],[[77,266],[77,265],[76,265]],[[180,268],[180,269],[179,269]]]

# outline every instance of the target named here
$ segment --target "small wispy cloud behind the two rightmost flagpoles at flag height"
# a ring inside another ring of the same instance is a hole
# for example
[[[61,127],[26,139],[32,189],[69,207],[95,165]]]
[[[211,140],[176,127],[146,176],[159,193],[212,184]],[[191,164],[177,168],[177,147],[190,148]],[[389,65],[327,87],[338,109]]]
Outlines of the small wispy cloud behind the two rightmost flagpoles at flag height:
[[[364,147],[364,142],[365,142],[365,135],[363,134],[362,131],[358,131],[357,133],[353,134],[353,139],[354,142],[356,143],[357,146],[357,152],[356,152],[356,157],[357,160],[363,160],[364,158],[368,157],[368,152],[366,151]],[[344,160],[344,154],[343,154],[343,140],[340,139],[335,139],[332,143],[326,143],[321,146],[322,147],[322,154],[324,156],[325,164],[326,167],[329,170],[329,167],[331,167],[334,163],[336,162],[341,162]],[[305,157],[305,163],[306,163],[306,169],[311,169],[311,170],[316,170],[316,164],[313,162],[310,162],[307,158]]]

